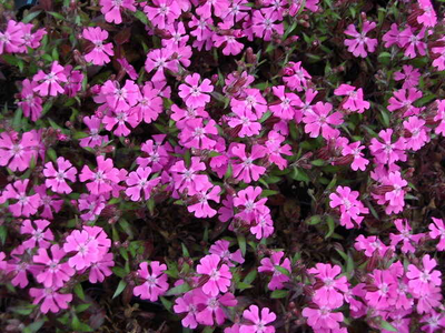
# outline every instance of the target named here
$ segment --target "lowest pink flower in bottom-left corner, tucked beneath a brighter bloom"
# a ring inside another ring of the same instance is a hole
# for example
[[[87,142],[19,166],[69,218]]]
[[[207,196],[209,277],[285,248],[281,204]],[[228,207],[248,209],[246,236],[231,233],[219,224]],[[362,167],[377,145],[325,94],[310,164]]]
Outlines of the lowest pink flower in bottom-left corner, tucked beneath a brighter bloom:
[[[40,305],[40,311],[43,313],[58,312],[60,309],[68,309],[68,303],[72,301],[72,294],[60,294],[58,287],[37,289],[31,287],[29,294],[34,299],[32,304],[43,303]]]

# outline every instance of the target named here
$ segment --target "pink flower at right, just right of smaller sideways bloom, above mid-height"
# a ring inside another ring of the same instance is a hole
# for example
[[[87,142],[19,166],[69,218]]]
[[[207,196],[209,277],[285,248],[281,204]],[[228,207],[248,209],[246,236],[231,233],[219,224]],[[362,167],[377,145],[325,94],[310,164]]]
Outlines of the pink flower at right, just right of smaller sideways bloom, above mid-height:
[[[405,152],[405,139],[399,138],[396,142],[392,142],[393,130],[382,130],[378,137],[383,140],[379,141],[376,138],[370,140],[369,150],[375,159],[383,164],[393,164],[394,162],[406,161]]]

